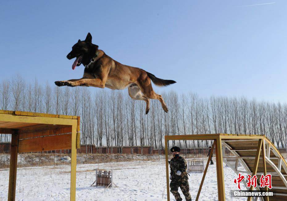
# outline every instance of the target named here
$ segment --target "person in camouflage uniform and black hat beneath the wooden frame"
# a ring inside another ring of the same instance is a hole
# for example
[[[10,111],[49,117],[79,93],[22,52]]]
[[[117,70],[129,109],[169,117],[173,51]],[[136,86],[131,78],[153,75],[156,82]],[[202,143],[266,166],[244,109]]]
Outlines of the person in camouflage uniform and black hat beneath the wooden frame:
[[[187,176],[187,163],[185,159],[179,156],[180,148],[173,147],[170,149],[173,153],[173,158],[169,162],[170,167],[170,192],[173,194],[177,201],[181,201],[182,198],[178,193],[178,187],[181,188],[186,201],[191,201],[191,195],[189,193],[189,183]]]

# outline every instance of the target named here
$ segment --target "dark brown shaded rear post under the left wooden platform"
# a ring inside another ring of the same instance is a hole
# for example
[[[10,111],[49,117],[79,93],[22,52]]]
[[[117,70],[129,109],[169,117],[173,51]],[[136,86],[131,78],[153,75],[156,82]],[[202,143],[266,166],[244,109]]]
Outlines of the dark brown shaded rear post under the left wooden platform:
[[[12,139],[11,139],[8,201],[14,201],[15,200],[18,144],[19,144],[19,135],[18,135],[17,130],[15,130],[14,134],[12,135]]]

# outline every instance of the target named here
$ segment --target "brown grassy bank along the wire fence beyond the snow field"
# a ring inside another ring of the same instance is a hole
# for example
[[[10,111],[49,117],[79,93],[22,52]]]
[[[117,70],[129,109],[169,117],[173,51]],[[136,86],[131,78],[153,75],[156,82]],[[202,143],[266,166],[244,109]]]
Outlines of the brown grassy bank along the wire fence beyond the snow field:
[[[158,151],[158,150],[157,150]],[[182,150],[181,156],[184,158],[203,158],[207,155],[194,151]],[[123,162],[123,161],[156,161],[165,160],[164,149],[155,154],[95,154],[95,153],[77,153],[77,164],[91,164],[91,163],[108,163],[108,162]],[[22,167],[36,167],[36,166],[57,166],[69,165],[71,162],[66,160],[71,157],[71,153],[19,153],[17,166]],[[168,157],[172,157],[172,153],[168,150]],[[10,166],[10,153],[0,154],[0,168],[5,169]]]

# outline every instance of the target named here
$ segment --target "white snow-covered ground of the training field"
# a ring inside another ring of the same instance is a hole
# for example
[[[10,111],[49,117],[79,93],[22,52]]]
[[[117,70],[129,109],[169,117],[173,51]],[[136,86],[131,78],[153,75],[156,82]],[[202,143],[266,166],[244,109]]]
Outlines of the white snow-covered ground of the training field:
[[[215,160],[214,160],[215,161]],[[206,163],[207,161],[205,161]],[[113,181],[119,187],[90,187],[95,180],[94,169],[113,168]],[[140,161],[77,165],[77,200],[167,200],[165,161]],[[189,186],[195,200],[203,173],[189,173]],[[237,175],[224,164],[226,200]],[[0,171],[0,201],[7,200],[9,170]],[[245,190],[243,184],[242,189]],[[179,192],[185,200],[180,188]],[[17,170],[16,200],[70,200],[70,166],[27,168]],[[170,193],[170,200],[175,200]],[[209,165],[199,200],[218,200],[216,165]]]

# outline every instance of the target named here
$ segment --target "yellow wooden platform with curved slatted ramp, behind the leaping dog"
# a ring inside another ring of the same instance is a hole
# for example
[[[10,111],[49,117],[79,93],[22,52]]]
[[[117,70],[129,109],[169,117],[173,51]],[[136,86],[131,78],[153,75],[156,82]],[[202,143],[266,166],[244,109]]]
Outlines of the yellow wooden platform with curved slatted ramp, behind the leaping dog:
[[[216,153],[216,172],[217,172],[217,190],[218,200],[225,201],[225,188],[224,188],[224,175],[223,175],[223,162],[225,162],[236,174],[271,174],[272,175],[272,189],[260,188],[257,185],[256,190],[265,190],[274,192],[276,196],[259,197],[259,200],[287,200],[287,163],[282,157],[280,152],[276,149],[274,144],[264,135],[233,135],[233,134],[202,134],[202,135],[173,135],[164,136],[165,147],[167,148],[168,140],[214,140],[212,150],[215,149]],[[228,149],[234,157],[226,157],[224,155],[225,149]],[[210,162],[210,157],[206,163],[206,168],[199,186],[196,201],[199,200],[203,181],[207,172]],[[235,166],[227,161],[227,158],[233,158]],[[237,170],[237,163],[240,161],[245,171]],[[166,166],[166,183],[167,183],[167,197],[169,195],[169,174],[168,174],[168,149],[165,149],[165,166]],[[259,179],[257,180],[257,182]],[[244,183],[246,186],[246,183]],[[248,188],[247,190],[253,190]],[[236,190],[236,189],[235,189]],[[276,193],[275,193],[276,192]],[[248,197],[247,200],[256,200],[256,198]],[[258,200],[257,199],[257,200]]]

